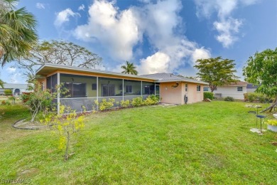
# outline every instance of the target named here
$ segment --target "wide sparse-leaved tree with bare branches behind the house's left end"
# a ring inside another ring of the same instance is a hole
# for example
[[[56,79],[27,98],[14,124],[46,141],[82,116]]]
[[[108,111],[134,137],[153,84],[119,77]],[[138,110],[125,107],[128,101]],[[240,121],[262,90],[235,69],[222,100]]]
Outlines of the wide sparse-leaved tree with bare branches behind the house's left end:
[[[28,56],[21,58],[18,68],[28,70],[26,75],[35,75],[45,63],[95,68],[102,58],[82,46],[67,41],[42,41],[32,48]]]

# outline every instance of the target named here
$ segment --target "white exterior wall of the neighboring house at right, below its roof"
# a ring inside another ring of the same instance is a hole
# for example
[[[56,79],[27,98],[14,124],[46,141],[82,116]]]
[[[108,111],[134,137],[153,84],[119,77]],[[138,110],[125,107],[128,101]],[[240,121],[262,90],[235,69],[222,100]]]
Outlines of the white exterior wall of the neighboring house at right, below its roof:
[[[237,91],[237,87],[242,87],[242,91]],[[234,99],[244,100],[244,93],[246,93],[246,86],[226,86],[218,87],[217,90],[214,90],[214,94],[222,94],[222,97],[234,97]]]

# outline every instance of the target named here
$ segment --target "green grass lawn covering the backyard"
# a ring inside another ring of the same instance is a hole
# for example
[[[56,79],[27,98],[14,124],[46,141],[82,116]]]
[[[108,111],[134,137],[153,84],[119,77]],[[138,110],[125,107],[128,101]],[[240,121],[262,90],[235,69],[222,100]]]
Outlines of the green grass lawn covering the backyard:
[[[25,108],[0,106],[1,178],[33,184],[276,184],[277,152],[270,142],[277,135],[250,132],[256,118],[245,104],[201,102],[89,115],[67,162],[57,136],[11,128],[28,115]]]

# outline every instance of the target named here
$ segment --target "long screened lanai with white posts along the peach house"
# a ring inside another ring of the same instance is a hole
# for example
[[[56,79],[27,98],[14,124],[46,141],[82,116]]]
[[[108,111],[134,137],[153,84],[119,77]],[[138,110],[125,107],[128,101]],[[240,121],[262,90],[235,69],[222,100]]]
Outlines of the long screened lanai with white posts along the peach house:
[[[114,107],[117,107],[121,100],[132,100],[135,97],[146,99],[149,95],[159,96],[160,93],[159,83],[65,73],[47,78],[48,89],[55,90],[55,85],[61,85],[61,88],[68,90],[65,95],[57,97],[56,101],[60,102],[60,105],[72,107],[76,112],[97,109],[95,100],[102,102],[104,98],[113,98]]]

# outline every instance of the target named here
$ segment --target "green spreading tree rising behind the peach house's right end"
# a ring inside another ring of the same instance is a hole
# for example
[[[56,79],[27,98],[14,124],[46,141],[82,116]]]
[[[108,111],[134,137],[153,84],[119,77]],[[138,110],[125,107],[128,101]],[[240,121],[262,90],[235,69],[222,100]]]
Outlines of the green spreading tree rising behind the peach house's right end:
[[[217,58],[199,59],[194,67],[199,70],[198,75],[201,80],[209,83],[210,89],[214,92],[215,88],[222,85],[229,85],[237,82],[237,76],[234,73],[234,60]]]

